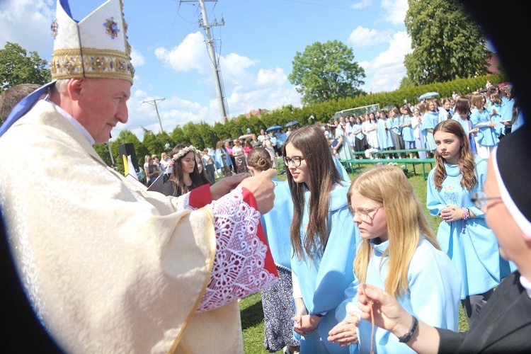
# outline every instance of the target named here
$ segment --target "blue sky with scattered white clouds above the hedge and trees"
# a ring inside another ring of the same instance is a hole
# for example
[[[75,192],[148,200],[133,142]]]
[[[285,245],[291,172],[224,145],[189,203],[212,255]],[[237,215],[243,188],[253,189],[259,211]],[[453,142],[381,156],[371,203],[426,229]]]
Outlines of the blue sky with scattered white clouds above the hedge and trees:
[[[74,19],[81,20],[102,0],[70,0]],[[158,103],[164,130],[176,125],[221,121],[205,34],[198,26],[197,1],[123,0],[135,65],[135,84],[127,124],[142,139],[145,127],[159,132],[153,105]],[[50,60],[55,18],[52,0],[0,0],[0,47],[16,42]],[[353,49],[367,77],[362,89],[397,89],[405,75],[404,55],[411,52],[404,16],[407,0],[218,0],[207,1],[224,81],[229,115],[282,105],[301,106],[287,76],[295,53],[307,45],[340,40]]]

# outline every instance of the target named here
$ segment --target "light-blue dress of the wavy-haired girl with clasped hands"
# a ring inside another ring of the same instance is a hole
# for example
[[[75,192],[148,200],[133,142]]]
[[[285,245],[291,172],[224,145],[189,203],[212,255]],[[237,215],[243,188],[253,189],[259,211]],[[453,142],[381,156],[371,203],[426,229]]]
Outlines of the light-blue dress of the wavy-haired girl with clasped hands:
[[[440,215],[448,204],[467,207],[476,215],[466,221],[443,221],[437,232],[440,248],[452,259],[463,280],[461,299],[491,290],[511,273],[508,261],[500,256],[498,241],[485,222],[484,212],[474,207],[470,200],[470,195],[483,186],[486,166],[486,161],[476,155],[478,183],[472,190],[466,190],[459,184],[462,176],[458,165],[445,163],[447,177],[441,190],[435,188],[435,169],[428,175],[426,206],[431,215]]]

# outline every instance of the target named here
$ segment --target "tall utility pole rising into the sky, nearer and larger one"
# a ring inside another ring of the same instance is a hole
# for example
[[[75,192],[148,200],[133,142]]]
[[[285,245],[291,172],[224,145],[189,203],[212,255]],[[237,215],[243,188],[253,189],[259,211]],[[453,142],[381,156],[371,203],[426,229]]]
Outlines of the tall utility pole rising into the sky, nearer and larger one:
[[[217,96],[217,105],[219,106],[219,115],[221,115],[222,122],[224,122],[228,118],[229,110],[226,105],[226,100],[224,97],[224,89],[223,89],[223,80],[222,80],[222,74],[221,70],[219,69],[219,63],[217,61],[217,55],[216,55],[216,48],[214,45],[214,40],[212,39],[212,33],[210,32],[210,28],[217,25],[225,25],[225,21],[222,17],[222,20],[220,23],[217,23],[216,18],[214,18],[213,23],[208,22],[207,18],[207,8],[205,7],[205,1],[216,1],[217,0],[181,0],[182,2],[199,2],[199,6],[201,8],[202,13],[202,19],[198,20],[199,27],[205,28],[205,37],[206,44],[207,44],[207,50],[208,50],[208,56],[210,57],[210,63],[212,64],[212,74],[214,75],[214,83],[216,86],[216,96]]]

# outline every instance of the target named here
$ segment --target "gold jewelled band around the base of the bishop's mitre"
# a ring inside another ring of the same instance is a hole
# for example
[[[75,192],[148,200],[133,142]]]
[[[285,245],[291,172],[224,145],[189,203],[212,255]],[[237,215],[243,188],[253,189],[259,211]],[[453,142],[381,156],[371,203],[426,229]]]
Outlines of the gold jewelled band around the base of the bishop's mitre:
[[[83,60],[78,49],[54,50],[50,72],[52,79],[95,77],[132,81],[135,68],[121,50],[84,48]]]

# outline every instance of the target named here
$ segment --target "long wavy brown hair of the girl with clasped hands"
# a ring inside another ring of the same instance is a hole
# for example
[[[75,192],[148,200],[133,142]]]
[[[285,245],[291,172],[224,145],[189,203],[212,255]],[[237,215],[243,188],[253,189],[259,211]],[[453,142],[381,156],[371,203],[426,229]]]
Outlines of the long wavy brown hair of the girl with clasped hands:
[[[466,190],[471,190],[477,184],[476,178],[476,162],[474,161],[474,153],[470,150],[467,133],[461,123],[457,120],[443,120],[435,126],[433,135],[436,132],[449,132],[455,135],[461,141],[461,148],[459,149],[459,171],[461,171],[461,186]],[[440,190],[442,188],[442,182],[446,178],[445,159],[435,152],[435,175],[433,180],[435,181],[435,188]]]

